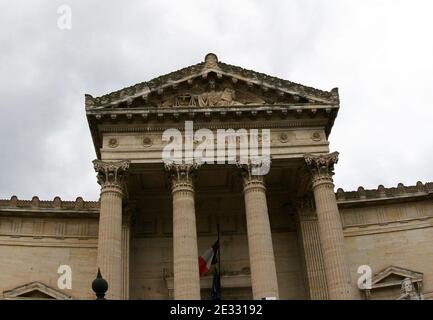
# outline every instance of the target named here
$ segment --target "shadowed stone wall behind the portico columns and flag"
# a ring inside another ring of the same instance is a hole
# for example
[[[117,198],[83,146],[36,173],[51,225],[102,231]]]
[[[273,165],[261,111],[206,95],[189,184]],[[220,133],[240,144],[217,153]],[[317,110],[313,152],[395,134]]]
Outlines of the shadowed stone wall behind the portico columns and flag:
[[[269,212],[280,298],[305,298],[299,244],[293,218],[281,206],[281,196],[270,197]],[[171,297],[173,249],[169,198],[144,199],[138,213],[131,242],[131,298],[167,299]],[[220,223],[222,282],[231,298],[251,299],[250,264],[241,194],[221,197],[198,196],[196,200],[198,253],[217,239]],[[211,275],[201,280],[202,298],[208,298]],[[230,287],[230,289],[228,289]]]

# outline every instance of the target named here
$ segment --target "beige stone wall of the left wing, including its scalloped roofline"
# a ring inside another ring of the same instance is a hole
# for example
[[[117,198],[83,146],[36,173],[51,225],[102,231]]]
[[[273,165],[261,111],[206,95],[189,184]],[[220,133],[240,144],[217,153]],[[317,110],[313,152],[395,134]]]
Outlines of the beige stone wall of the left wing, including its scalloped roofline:
[[[34,281],[73,299],[93,299],[98,203],[0,200],[0,299]],[[61,290],[60,265],[72,269],[72,289]]]

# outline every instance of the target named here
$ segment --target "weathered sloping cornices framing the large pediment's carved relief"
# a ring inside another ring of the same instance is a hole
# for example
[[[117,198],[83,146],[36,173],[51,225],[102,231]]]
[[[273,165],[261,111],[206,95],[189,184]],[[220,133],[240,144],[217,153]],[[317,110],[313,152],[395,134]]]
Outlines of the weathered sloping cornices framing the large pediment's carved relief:
[[[150,81],[141,82],[100,97],[94,98],[91,95],[86,95],[86,108],[88,110],[125,108],[134,105],[137,100],[142,105],[142,102],[147,102],[152,95],[169,95],[169,92],[175,91],[182,85],[191,87],[197,85],[198,82],[203,84],[206,80],[213,81],[213,78],[228,79],[231,81],[232,86],[243,86],[249,88],[250,92],[261,91],[267,95],[272,92],[276,97],[279,97],[277,101],[279,103],[339,104],[337,89],[322,91],[219,62],[216,55],[208,54],[204,62],[162,75]],[[243,93],[245,94],[245,92]]]

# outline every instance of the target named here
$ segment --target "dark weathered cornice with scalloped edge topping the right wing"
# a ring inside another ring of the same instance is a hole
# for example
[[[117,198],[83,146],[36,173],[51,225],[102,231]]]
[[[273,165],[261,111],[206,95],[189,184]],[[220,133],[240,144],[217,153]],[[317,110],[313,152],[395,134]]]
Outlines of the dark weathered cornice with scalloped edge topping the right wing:
[[[340,207],[347,207],[360,202],[404,200],[407,198],[429,198],[433,197],[433,182],[417,182],[414,186],[405,186],[399,183],[397,187],[385,188],[379,185],[377,189],[366,190],[359,187],[357,191],[344,191],[338,188],[336,192],[337,202]]]

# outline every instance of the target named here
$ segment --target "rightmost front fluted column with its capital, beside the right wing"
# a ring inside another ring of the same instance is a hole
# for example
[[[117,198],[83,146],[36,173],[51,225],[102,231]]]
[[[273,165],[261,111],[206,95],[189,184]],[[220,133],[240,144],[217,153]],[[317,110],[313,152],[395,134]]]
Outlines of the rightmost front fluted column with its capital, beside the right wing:
[[[347,263],[343,227],[332,180],[338,152],[323,155],[306,154],[307,167],[312,173],[312,187],[322,244],[326,282],[331,300],[354,299]]]

